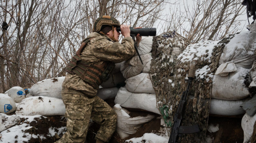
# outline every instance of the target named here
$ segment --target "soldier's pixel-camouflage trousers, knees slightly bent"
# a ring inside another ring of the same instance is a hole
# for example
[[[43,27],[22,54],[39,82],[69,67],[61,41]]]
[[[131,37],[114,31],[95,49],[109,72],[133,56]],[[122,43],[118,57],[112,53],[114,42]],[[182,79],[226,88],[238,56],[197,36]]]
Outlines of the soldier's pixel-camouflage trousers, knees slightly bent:
[[[109,142],[116,129],[117,115],[104,100],[67,88],[62,88],[62,100],[66,107],[67,131],[55,143],[84,143],[90,118],[101,125],[95,139]]]

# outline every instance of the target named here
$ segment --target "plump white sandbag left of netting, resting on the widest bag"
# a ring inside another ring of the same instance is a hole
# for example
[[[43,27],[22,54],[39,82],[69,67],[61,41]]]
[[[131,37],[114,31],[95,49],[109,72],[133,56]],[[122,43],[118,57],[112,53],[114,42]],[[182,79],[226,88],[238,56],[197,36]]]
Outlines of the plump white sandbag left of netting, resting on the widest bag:
[[[141,73],[128,78],[125,81],[126,89],[134,93],[155,93],[150,75],[147,73]]]

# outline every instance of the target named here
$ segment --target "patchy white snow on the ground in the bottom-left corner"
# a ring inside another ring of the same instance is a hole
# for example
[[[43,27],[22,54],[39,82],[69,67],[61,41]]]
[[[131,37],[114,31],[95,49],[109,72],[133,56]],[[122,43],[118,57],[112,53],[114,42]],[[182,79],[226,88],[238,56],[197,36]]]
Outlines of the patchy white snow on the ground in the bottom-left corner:
[[[28,141],[31,138],[38,138],[40,136],[30,133],[24,133],[25,130],[32,128],[29,125],[30,122],[35,121],[34,118],[41,118],[41,115],[34,115],[34,116],[25,116],[25,115],[17,115],[20,118],[25,118],[25,121],[20,125],[15,125],[5,131],[0,133],[0,142],[7,143],[7,142],[15,142],[23,143],[24,141]],[[46,118],[46,117],[45,117]],[[41,137],[42,138],[42,137]]]

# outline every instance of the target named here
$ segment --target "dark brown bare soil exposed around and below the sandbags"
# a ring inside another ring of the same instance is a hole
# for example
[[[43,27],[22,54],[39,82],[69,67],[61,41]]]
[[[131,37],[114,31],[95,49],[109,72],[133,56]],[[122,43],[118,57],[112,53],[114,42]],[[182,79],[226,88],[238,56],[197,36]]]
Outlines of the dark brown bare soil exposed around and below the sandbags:
[[[113,100],[107,100],[107,103],[113,107],[115,103]],[[129,109],[129,111],[131,111]],[[131,117],[135,116],[146,116],[147,114],[156,115],[149,112],[142,112],[142,111],[131,111],[129,114]],[[28,132],[30,134],[39,134],[43,135],[46,139],[30,139],[28,143],[53,143],[56,140],[60,139],[62,137],[63,133],[55,134],[53,137],[48,137],[48,131],[51,127],[61,128],[66,126],[66,120],[63,118],[64,116],[46,116],[47,118],[37,118],[35,119],[37,122],[31,122],[30,125],[33,126],[33,128],[26,130],[25,132]],[[140,128],[138,128],[137,132],[133,135],[130,135],[126,139],[120,139],[117,132],[114,133],[112,138],[110,139],[110,143],[123,143],[127,139],[131,138],[137,138],[143,136],[144,133],[156,133],[156,134],[163,134],[161,132],[161,125],[160,125],[160,118],[159,115],[156,115],[156,117],[148,122],[143,124]],[[241,120],[242,115],[240,116],[233,116],[231,117],[220,117],[220,116],[210,116],[209,117],[209,124],[219,124],[219,131],[210,133],[207,132],[208,136],[211,136],[214,139],[215,142],[221,142],[221,143],[242,143],[243,142],[243,130],[241,127]],[[23,120],[24,121],[24,120]],[[97,123],[91,123],[88,133],[87,133],[87,143],[95,143],[94,137],[99,130],[100,125]],[[57,129],[55,129],[56,132],[58,132]]]

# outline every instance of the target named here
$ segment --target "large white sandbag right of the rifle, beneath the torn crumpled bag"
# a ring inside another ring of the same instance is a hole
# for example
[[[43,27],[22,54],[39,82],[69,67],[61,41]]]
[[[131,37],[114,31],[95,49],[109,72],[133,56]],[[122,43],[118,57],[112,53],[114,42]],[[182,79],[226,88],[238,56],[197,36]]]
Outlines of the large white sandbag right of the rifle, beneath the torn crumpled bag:
[[[211,97],[223,100],[240,100],[250,95],[245,80],[249,80],[250,69],[237,67],[228,76],[214,75]],[[249,82],[250,83],[250,82]]]

